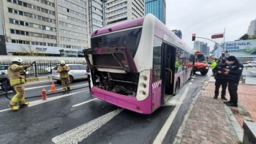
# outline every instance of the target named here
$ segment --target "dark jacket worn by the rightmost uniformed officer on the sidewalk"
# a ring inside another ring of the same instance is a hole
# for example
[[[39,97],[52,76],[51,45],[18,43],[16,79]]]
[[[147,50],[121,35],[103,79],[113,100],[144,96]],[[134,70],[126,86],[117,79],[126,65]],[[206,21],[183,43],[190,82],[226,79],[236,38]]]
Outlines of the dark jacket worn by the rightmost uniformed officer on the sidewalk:
[[[239,61],[235,61],[234,64],[230,65],[230,72],[228,72],[227,74],[227,79],[239,81],[242,75],[243,69],[244,69],[243,64],[240,64]]]

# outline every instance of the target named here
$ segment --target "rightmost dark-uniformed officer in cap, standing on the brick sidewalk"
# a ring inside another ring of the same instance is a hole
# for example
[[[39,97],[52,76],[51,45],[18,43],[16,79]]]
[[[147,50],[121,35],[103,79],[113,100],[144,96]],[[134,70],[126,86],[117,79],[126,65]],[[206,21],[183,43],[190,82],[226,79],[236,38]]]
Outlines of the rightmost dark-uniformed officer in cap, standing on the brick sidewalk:
[[[230,64],[230,69],[225,69],[225,75],[228,80],[228,91],[230,93],[230,101],[224,102],[231,107],[238,107],[238,84],[242,75],[244,66],[239,63],[235,56],[229,56],[227,58],[227,64]]]

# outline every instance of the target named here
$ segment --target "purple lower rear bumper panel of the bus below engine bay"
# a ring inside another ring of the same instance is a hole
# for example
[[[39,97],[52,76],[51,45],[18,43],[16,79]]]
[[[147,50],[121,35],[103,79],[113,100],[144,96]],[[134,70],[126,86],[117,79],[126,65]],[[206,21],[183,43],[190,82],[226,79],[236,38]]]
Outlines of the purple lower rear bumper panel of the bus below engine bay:
[[[123,107],[127,110],[135,111],[136,113],[151,114],[151,93],[143,101],[138,101],[136,97],[124,96],[121,94],[116,94],[110,91],[105,91],[103,89],[93,87],[91,88],[92,96],[102,99],[118,107]]]

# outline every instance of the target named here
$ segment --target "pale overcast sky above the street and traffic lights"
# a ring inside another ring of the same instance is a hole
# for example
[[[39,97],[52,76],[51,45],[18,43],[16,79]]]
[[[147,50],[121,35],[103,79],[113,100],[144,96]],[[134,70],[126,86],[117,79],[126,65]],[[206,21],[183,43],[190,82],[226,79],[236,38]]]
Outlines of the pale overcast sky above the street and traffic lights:
[[[166,0],[166,26],[181,30],[182,39],[190,48],[194,48],[192,34],[211,39],[212,34],[225,29],[225,42],[234,41],[246,34],[255,18],[256,0]],[[207,42],[211,49],[214,46],[206,39],[195,40]]]

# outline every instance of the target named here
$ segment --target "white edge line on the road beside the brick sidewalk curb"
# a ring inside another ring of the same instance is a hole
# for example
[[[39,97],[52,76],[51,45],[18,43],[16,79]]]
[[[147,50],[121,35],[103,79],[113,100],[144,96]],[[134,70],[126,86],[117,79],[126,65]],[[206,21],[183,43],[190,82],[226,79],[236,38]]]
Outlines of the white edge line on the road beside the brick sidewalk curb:
[[[164,140],[165,135],[167,134],[168,130],[170,129],[170,125],[173,123],[173,119],[176,117],[176,114],[178,113],[179,107],[181,107],[181,104],[187,95],[187,91],[189,91],[189,88],[187,87],[182,94],[181,98],[178,99],[178,102],[176,103],[176,107],[174,108],[173,112],[170,114],[170,116],[167,118],[165,121],[164,126],[162,126],[162,129],[160,132],[157,134],[157,137],[154,139],[153,144],[159,144],[162,143],[162,140]]]

